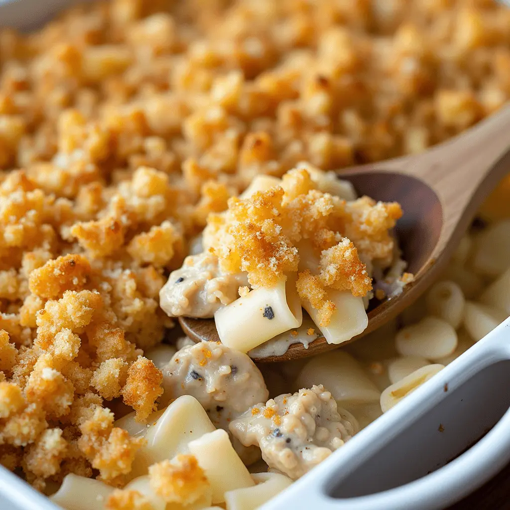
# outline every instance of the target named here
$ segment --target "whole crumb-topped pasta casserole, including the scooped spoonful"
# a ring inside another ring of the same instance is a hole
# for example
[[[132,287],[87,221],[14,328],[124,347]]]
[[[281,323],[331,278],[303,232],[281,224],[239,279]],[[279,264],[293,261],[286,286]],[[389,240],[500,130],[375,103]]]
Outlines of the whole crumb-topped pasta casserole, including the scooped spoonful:
[[[491,0],[110,0],[0,30],[0,464],[67,510],[252,510],[510,314],[510,181],[398,320],[353,164],[510,96]],[[175,317],[214,318],[194,344]]]

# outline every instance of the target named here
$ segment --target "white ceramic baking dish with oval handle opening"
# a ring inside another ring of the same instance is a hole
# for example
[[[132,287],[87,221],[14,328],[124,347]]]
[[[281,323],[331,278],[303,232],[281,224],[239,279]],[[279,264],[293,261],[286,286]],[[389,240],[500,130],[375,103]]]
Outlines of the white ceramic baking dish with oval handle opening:
[[[72,3],[0,0],[0,26],[36,28]],[[507,319],[263,509],[444,508],[510,461],[509,407]],[[0,509],[58,507],[0,466]]]

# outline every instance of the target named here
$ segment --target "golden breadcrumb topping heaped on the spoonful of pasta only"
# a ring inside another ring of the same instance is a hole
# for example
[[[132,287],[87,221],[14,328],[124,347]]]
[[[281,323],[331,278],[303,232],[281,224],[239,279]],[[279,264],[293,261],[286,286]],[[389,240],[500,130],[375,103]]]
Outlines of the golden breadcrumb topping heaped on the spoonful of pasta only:
[[[381,269],[392,264],[390,230],[402,210],[397,203],[368,197],[346,201],[322,193],[314,189],[306,167],[289,170],[281,187],[231,198],[226,212],[209,217],[204,242],[223,270],[246,271],[252,287],[272,287],[286,272],[297,271],[303,254],[295,244],[309,243],[319,276],[301,272],[298,290],[320,310],[321,325],[327,325],[335,307],[325,289],[349,290],[354,296],[372,290],[366,263]]]

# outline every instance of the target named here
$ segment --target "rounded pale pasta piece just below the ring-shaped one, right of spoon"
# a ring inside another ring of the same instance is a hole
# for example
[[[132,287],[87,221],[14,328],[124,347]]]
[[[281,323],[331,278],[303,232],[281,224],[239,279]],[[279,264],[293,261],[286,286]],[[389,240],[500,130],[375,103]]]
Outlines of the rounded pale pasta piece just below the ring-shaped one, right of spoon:
[[[395,337],[401,356],[422,356],[437,360],[450,355],[457,347],[455,329],[443,319],[425,317],[418,324],[403,327]]]

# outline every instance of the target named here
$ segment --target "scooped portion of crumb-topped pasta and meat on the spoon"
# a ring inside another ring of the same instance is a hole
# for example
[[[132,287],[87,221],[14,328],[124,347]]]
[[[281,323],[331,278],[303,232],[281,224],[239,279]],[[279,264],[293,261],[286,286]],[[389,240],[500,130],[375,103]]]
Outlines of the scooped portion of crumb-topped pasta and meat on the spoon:
[[[221,341],[243,352],[299,328],[302,309],[340,344],[367,327],[373,278],[379,299],[412,279],[391,232],[401,216],[397,202],[356,198],[350,183],[308,163],[282,179],[258,176],[209,215],[203,251],[170,273],[161,307],[214,316]]]

